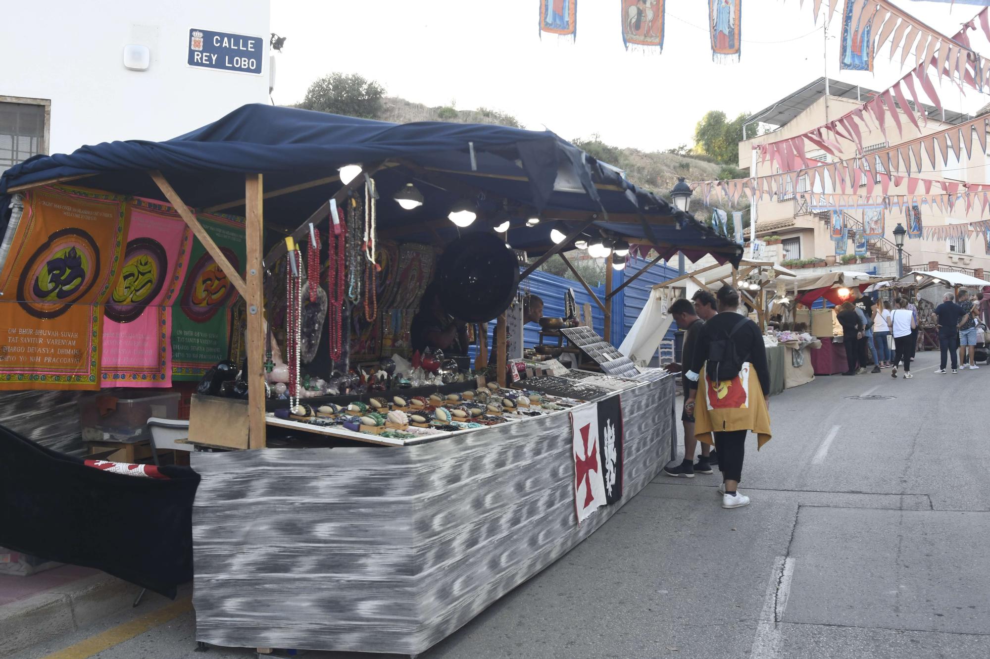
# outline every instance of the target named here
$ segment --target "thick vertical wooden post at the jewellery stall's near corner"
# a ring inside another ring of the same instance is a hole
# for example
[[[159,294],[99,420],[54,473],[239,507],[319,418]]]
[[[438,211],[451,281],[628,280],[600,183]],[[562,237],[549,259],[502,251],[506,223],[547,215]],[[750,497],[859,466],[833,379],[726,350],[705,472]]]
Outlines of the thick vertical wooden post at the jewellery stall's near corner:
[[[261,174],[245,178],[247,246],[247,446],[265,447],[264,428],[264,218]]]

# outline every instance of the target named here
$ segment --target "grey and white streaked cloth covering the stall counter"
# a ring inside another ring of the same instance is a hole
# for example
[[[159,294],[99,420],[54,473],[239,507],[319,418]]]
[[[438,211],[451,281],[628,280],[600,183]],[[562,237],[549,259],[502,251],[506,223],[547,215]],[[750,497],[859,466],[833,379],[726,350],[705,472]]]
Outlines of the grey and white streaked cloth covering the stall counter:
[[[567,412],[404,446],[193,454],[202,477],[197,640],[425,651],[594,532],[659,472],[675,378],[641,377],[608,395],[622,407],[622,497],[580,524]]]

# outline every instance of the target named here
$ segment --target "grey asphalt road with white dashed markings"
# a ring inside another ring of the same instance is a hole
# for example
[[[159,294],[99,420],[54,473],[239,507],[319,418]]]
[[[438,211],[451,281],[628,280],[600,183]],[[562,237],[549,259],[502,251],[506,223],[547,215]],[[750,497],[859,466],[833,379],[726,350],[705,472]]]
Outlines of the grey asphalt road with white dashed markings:
[[[615,518],[424,659],[990,656],[990,367],[912,380],[820,377],[771,401],[774,438],[750,437],[743,509],[718,472],[657,478]],[[889,397],[854,400],[853,396]],[[163,602],[17,655],[229,659],[193,652],[192,612],[110,649]],[[367,657],[309,652],[312,659]]]

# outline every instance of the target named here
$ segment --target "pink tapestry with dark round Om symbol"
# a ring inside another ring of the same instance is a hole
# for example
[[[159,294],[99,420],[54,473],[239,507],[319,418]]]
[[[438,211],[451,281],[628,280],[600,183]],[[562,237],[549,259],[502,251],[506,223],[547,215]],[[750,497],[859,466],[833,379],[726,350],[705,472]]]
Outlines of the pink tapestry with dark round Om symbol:
[[[136,198],[120,280],[104,309],[103,387],[172,385],[172,308],[191,232],[167,204]]]

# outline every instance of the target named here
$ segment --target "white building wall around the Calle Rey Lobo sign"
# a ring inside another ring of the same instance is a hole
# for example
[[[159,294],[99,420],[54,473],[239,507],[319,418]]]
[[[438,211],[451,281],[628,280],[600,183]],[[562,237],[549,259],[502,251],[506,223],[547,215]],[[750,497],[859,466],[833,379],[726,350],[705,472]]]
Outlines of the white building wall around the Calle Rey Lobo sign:
[[[246,103],[269,103],[269,0],[87,0],[4,4],[0,97],[48,99],[49,153],[161,141]],[[190,28],[260,37],[260,75],[189,66]],[[150,66],[124,67],[147,46]]]

